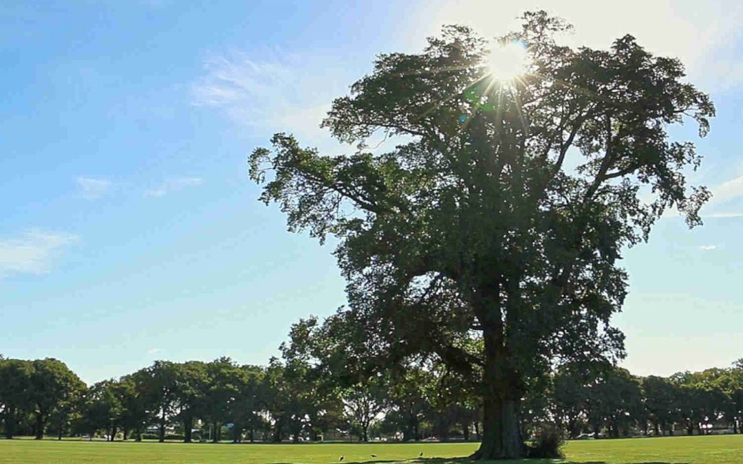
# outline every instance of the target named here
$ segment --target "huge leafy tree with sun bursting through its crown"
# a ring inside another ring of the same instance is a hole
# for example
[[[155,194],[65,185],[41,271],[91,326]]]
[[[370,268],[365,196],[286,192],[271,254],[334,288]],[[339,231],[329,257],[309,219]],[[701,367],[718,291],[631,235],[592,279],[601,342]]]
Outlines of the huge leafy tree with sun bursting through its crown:
[[[667,134],[690,119],[704,136],[714,114],[681,62],[632,36],[559,45],[568,28],[526,13],[500,43],[528,59],[504,79],[504,63],[487,65],[499,45],[446,27],[421,53],[378,56],[334,101],[323,124],[354,153],[276,134],[250,157],[290,230],[339,239],[351,308],[375,342],[481,375],[481,458],[525,454],[519,403],[555,359],[623,354],[609,324],[626,295],[621,251],[666,209],[700,223],[710,196],[684,177],[695,147]],[[371,150],[378,132],[399,145]]]

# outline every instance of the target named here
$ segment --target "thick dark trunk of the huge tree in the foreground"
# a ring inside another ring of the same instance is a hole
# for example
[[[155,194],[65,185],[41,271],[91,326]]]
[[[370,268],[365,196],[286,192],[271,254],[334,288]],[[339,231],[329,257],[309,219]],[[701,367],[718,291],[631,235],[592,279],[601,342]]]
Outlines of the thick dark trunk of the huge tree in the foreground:
[[[517,459],[526,447],[519,421],[521,393],[516,373],[508,362],[500,313],[497,321],[483,324],[485,344],[484,414],[482,442],[474,457],[479,460]]]

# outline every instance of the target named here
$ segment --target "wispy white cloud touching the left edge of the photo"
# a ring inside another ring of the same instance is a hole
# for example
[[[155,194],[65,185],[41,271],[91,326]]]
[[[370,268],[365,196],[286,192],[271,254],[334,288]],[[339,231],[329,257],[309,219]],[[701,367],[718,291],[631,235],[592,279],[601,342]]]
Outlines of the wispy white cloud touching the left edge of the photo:
[[[0,278],[13,274],[44,274],[77,237],[31,229],[16,238],[0,238]]]

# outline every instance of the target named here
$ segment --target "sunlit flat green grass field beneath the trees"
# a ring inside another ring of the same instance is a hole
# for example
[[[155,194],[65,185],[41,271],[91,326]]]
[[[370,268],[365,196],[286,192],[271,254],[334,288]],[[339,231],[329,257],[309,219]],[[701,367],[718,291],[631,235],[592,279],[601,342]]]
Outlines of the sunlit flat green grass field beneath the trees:
[[[473,443],[400,445],[230,445],[0,440],[0,464],[444,464],[476,449]],[[423,458],[418,454],[424,453]],[[371,457],[375,454],[376,457]],[[529,463],[743,464],[743,436],[669,437],[568,442],[567,460]],[[513,463],[513,461],[510,461]],[[499,463],[505,464],[504,461]]]

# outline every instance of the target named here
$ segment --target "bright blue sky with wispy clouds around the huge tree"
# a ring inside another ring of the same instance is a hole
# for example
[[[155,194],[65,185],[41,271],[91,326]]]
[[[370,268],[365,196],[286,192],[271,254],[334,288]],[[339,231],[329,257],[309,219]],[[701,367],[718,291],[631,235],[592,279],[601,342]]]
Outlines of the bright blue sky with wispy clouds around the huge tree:
[[[291,323],[343,304],[343,280],[332,244],[256,200],[250,150],[284,130],[340,152],[317,125],[374,54],[418,50],[441,24],[496,36],[543,7],[576,44],[633,33],[680,57],[718,107],[692,176],[716,195],[705,225],[669,216],[626,252],[623,364],[667,375],[743,357],[743,8],[402,3],[4,1],[0,353],[57,357],[86,382],[155,359],[266,362]]]

